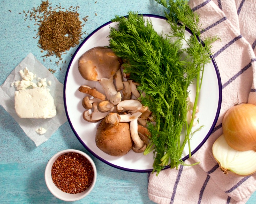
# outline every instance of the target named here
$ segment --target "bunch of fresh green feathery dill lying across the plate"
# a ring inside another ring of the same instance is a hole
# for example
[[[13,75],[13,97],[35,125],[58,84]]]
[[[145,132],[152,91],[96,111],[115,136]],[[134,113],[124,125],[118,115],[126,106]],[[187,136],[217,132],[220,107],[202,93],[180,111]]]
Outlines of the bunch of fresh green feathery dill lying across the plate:
[[[109,47],[122,58],[124,72],[139,83],[144,92],[141,103],[152,111],[154,123],[148,123],[150,144],[144,154],[153,151],[153,172],[157,175],[166,166],[177,168],[186,165],[182,158],[183,149],[190,138],[195,110],[199,98],[205,64],[209,57],[210,44],[217,38],[200,40],[199,16],[194,14],[185,0],[155,0],[163,5],[170,32],[159,35],[150,19],[138,13],[129,12],[127,17],[115,16],[110,27]],[[192,35],[185,38],[185,29]],[[175,40],[174,40],[175,39]],[[183,48],[186,42],[188,47]],[[196,81],[196,82],[195,82]],[[196,84],[191,123],[187,123],[189,86]],[[181,142],[180,136],[185,133]],[[191,152],[190,152],[191,156]]]

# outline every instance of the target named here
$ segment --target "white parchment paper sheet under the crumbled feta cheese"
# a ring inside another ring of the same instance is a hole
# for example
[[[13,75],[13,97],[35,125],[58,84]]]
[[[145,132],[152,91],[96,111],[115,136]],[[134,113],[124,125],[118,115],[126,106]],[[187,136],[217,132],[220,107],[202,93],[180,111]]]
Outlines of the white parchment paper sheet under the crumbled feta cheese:
[[[54,98],[57,110],[55,117],[47,119],[20,118],[16,114],[14,109],[14,92],[16,91],[16,87],[12,87],[11,84],[17,80],[21,80],[19,70],[24,70],[25,67],[27,67],[30,72],[36,74],[36,77],[46,78],[47,81],[51,81],[51,86],[47,86],[47,88],[50,89],[50,93]],[[29,53],[24,60],[16,66],[5,82],[0,86],[0,95],[2,96],[0,98],[0,104],[19,123],[20,127],[27,136],[35,142],[36,146],[47,141],[59,126],[67,121],[63,101],[63,84],[59,82],[57,78],[46,67],[44,67],[32,53]],[[46,133],[39,135],[35,131],[35,129],[40,127],[46,129]]]

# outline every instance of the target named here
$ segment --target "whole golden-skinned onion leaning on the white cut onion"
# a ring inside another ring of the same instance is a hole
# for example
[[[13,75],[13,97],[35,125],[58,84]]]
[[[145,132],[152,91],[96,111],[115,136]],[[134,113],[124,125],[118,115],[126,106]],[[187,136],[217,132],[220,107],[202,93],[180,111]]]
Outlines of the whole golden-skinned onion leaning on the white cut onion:
[[[256,151],[256,106],[239,104],[228,109],[222,129],[228,145],[238,151]]]

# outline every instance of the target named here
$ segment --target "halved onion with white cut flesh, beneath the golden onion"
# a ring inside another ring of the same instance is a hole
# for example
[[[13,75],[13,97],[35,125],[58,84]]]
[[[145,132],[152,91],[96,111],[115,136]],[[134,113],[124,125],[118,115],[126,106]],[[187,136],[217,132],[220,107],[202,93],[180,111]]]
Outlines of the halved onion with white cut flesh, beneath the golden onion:
[[[231,148],[224,135],[214,142],[212,151],[224,174],[232,172],[239,176],[248,176],[256,172],[256,152],[237,151]]]

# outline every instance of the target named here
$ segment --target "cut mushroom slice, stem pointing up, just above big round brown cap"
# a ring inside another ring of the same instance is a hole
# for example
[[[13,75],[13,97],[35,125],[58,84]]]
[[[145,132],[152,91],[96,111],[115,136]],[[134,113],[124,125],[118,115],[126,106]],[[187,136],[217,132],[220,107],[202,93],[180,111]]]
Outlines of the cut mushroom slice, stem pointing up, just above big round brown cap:
[[[87,122],[97,122],[106,117],[111,111],[108,112],[100,112],[97,108],[99,102],[94,102],[93,105],[93,112],[90,113],[88,110],[83,113],[83,118]]]

